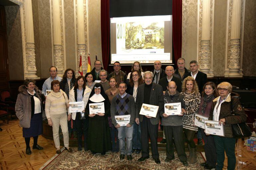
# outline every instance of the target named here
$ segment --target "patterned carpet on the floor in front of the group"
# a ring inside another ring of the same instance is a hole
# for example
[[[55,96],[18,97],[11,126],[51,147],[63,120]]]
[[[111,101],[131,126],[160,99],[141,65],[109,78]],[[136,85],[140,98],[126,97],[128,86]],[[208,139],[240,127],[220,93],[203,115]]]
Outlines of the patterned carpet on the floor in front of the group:
[[[72,148],[73,152],[69,153],[63,150],[61,154],[55,155],[50,159],[40,170],[203,170],[200,163],[204,162],[200,152],[197,152],[197,160],[195,164],[189,164],[185,167],[180,162],[175,152],[175,160],[171,163],[164,162],[165,151],[159,151],[161,164],[157,165],[151,157],[143,162],[138,162],[137,159],[141,154],[132,154],[133,160],[128,161],[119,159],[119,153],[107,152],[106,155],[91,154],[91,152],[77,151],[77,148]],[[189,153],[187,153],[188,155]]]

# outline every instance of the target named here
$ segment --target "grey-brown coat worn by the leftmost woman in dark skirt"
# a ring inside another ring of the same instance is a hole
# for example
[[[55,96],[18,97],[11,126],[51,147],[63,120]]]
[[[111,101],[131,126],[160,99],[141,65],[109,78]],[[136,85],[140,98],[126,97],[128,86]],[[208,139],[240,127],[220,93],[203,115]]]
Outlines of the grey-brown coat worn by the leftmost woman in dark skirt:
[[[38,96],[42,106],[42,92],[35,86],[36,95]],[[16,116],[20,120],[20,127],[30,128],[31,120],[31,96],[29,95],[25,85],[19,87],[19,94],[17,97],[15,112]],[[43,109],[42,109],[43,112]]]

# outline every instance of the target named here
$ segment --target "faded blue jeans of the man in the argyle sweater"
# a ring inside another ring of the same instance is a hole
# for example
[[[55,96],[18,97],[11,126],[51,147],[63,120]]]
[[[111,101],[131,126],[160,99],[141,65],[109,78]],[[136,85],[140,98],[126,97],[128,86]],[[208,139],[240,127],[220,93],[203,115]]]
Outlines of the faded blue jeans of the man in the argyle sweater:
[[[131,155],[133,125],[130,128],[126,126],[121,126],[120,128],[117,128],[117,131],[118,131],[120,154]],[[125,138],[126,138],[126,148],[125,148]]]

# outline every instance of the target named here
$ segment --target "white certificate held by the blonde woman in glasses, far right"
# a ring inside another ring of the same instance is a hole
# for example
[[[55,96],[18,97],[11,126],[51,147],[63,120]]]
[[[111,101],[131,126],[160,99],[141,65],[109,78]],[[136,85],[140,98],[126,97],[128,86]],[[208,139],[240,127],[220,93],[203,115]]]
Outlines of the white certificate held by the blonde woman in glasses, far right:
[[[223,124],[218,121],[204,120],[205,133],[210,135],[225,136]]]

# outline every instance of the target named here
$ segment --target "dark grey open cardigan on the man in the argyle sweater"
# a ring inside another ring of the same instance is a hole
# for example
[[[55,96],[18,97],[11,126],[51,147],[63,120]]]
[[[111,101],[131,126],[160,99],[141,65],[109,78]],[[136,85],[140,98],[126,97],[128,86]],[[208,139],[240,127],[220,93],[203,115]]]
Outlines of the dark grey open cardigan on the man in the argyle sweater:
[[[117,94],[117,95],[119,95],[119,94]],[[115,113],[116,113],[116,108],[117,108],[117,103],[116,103],[117,95],[115,95],[113,97],[112,103],[111,103],[111,106],[110,106],[111,120],[112,120],[112,123],[113,123],[114,126],[117,125],[116,119],[115,119]],[[127,103],[127,105],[129,106],[127,111],[131,115],[129,124],[133,125],[134,120],[135,120],[135,102],[134,102],[134,98],[133,98],[132,95],[130,95],[128,93],[126,95],[129,95],[128,96],[129,102]]]

